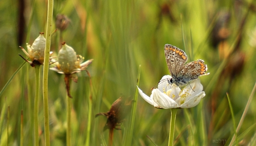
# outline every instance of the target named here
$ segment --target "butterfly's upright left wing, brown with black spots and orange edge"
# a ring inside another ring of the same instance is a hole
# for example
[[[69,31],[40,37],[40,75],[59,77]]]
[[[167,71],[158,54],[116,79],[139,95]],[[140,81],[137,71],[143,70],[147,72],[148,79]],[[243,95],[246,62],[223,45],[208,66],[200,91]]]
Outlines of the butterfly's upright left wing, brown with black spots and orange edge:
[[[164,53],[169,72],[175,78],[184,67],[188,57],[183,50],[171,44],[165,44]]]

